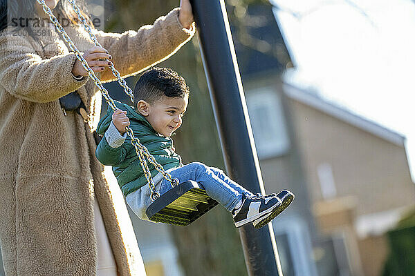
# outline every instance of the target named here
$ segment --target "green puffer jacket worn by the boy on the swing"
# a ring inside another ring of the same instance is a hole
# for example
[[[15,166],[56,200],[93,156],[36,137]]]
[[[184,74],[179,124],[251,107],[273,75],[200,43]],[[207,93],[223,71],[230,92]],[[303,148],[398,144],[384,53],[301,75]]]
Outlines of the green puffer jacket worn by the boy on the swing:
[[[156,161],[165,170],[180,166],[181,157],[172,149],[173,140],[171,138],[158,135],[147,119],[136,112],[133,107],[120,103],[119,101],[114,102],[118,108],[127,111],[130,128],[133,130],[134,136],[140,139],[140,143],[149,150],[151,155],[154,156]],[[113,110],[109,107],[107,114],[98,123],[97,132],[99,135],[104,135],[105,131],[109,128],[112,115]],[[114,175],[118,180],[118,185],[120,185],[124,196],[147,184],[140,165],[140,159],[138,159],[136,149],[131,144],[131,138],[128,135],[124,144],[118,148],[111,148],[107,139],[103,137],[100,144],[98,144],[95,155],[102,164],[113,166]],[[149,166],[151,177],[156,176],[158,170],[149,161],[147,161],[147,165]]]

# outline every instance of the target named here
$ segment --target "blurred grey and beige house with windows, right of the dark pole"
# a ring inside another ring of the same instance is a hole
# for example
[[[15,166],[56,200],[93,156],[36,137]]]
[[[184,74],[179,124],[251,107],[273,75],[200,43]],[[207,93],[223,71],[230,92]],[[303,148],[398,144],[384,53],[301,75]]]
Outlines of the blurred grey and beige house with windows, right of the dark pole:
[[[276,78],[244,84],[266,189],[309,204],[273,222],[284,275],[380,275],[386,231],[415,207],[405,137]]]

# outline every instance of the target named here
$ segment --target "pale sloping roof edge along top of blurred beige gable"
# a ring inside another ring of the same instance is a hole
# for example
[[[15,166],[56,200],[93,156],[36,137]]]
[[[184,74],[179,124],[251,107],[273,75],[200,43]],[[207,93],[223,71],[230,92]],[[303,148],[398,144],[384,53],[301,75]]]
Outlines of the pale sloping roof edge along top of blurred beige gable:
[[[335,103],[331,103],[326,99],[323,99],[317,93],[313,93],[302,88],[295,87],[291,84],[284,83],[285,94],[296,101],[311,106],[317,110],[320,110],[328,115],[331,115],[337,119],[340,119],[352,126],[356,126],[362,130],[365,130],[377,137],[385,139],[397,146],[405,147],[405,137],[398,132],[394,132],[384,126],[380,126],[374,121],[356,115],[355,113],[340,107]]]

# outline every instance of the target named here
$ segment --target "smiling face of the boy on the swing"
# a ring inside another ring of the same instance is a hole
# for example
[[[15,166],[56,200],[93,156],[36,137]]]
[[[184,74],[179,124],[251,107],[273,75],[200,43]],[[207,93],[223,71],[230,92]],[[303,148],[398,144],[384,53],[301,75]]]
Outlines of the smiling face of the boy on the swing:
[[[180,128],[182,117],[186,112],[188,96],[169,98],[163,96],[153,103],[138,101],[137,110],[160,135],[170,137]]]

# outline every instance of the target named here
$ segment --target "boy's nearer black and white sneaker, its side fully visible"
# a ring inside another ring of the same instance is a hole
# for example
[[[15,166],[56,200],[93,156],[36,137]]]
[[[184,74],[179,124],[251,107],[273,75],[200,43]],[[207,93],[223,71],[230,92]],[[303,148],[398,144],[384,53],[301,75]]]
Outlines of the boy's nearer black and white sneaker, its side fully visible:
[[[281,200],[275,194],[246,197],[242,206],[232,211],[235,226],[241,227],[274,213],[280,205]]]

